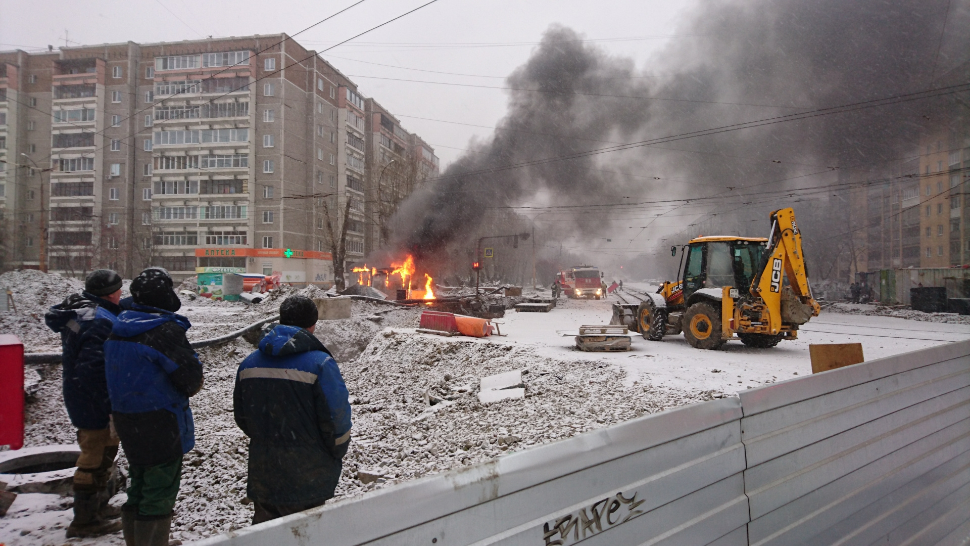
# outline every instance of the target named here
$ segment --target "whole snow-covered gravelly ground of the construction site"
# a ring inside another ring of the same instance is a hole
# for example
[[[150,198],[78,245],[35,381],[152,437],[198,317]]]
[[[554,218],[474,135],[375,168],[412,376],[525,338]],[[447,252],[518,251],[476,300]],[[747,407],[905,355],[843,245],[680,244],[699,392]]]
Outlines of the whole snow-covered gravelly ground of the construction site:
[[[21,300],[19,316],[4,314],[0,321],[24,336],[28,351],[50,351],[55,349],[52,340],[39,327],[43,306],[77,285],[37,275],[0,277],[8,285],[29,281],[24,292],[31,294]],[[49,290],[49,296],[39,297],[38,287]],[[287,293],[316,295],[315,290],[284,288],[255,307],[186,299],[181,312],[194,324],[190,339],[201,339],[274,314]],[[318,324],[318,335],[339,356],[353,401],[353,440],[334,501],[644,413],[808,374],[811,343],[860,342],[865,358],[873,359],[970,338],[968,324],[853,314],[881,313],[874,306],[826,308],[802,327],[798,340],[768,350],[731,341],[721,351],[699,351],[682,335],[661,342],[636,335],[628,353],[582,353],[573,348],[573,338],[557,335],[556,330],[581,324],[607,324],[610,303],[561,298],[550,313],[509,311],[500,320],[506,335],[485,339],[416,333],[418,311],[359,302],[351,319]],[[239,362],[252,350],[237,339],[200,351],[206,387],[191,402],[197,446],[184,460],[175,539],[187,542],[238,529],[251,518],[245,498],[247,439],[233,422],[232,389]],[[515,369],[523,370],[526,398],[478,403],[481,377]],[[60,398],[59,367],[32,367],[27,375],[37,384],[36,401],[27,408],[28,445],[73,443],[74,428]],[[427,400],[442,401],[429,405]],[[123,457],[119,464],[125,465]],[[381,478],[364,484],[358,471]],[[63,544],[69,501],[58,495],[19,496],[0,518],[0,543]],[[121,539],[114,535],[70,543],[121,544]]]

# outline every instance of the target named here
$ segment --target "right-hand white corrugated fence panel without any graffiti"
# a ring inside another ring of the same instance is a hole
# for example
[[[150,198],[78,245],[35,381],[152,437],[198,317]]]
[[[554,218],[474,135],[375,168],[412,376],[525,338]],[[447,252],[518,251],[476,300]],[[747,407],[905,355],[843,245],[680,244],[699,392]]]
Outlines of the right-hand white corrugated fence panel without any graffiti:
[[[740,396],[749,544],[936,544],[970,518],[970,342]]]

